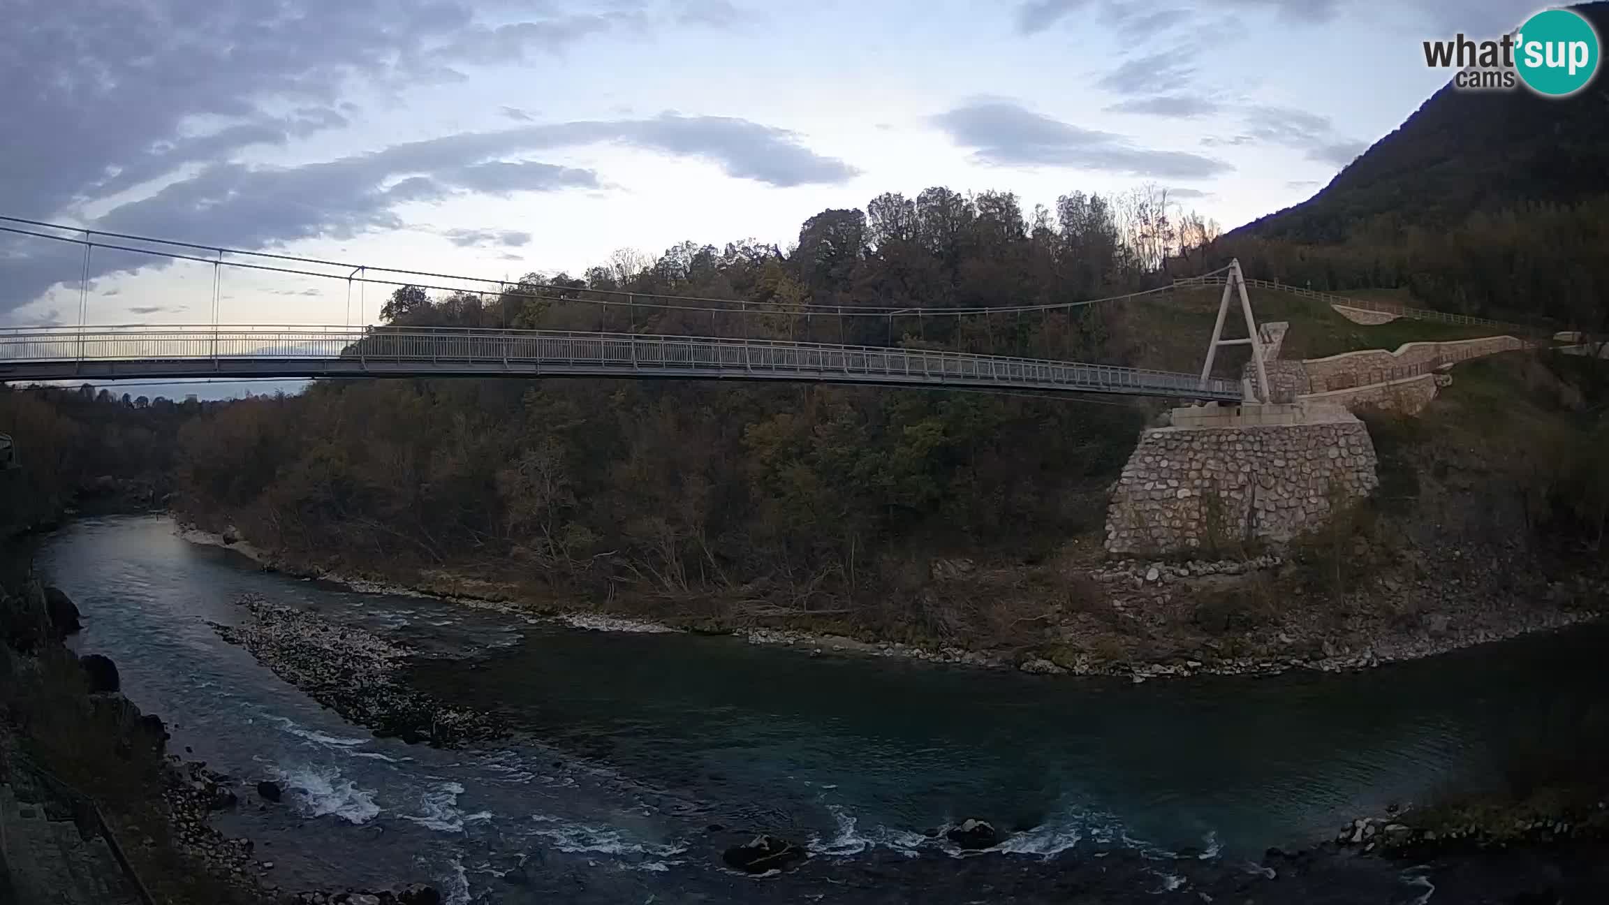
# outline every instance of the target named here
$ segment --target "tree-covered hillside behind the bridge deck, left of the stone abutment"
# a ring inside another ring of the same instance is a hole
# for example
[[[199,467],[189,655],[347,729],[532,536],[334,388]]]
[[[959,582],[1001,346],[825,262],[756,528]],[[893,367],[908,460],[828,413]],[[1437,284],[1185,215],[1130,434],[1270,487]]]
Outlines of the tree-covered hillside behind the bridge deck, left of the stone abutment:
[[[811,217],[788,253],[755,243],[681,245],[652,261],[621,253],[584,279],[533,275],[484,298],[402,288],[385,316],[399,325],[739,327],[584,301],[624,288],[639,301],[743,300],[764,311],[747,327],[779,337],[1133,361],[1146,343],[1121,306],[922,322],[788,312],[804,301],[1073,301],[1162,283],[1163,264],[1181,261],[1181,227],[1150,192],[1117,203],[1070,195],[1033,217],[1010,195],[943,188],[883,195],[867,209]],[[1212,238],[1194,217],[1183,227],[1197,243]],[[1200,253],[1184,243],[1184,258]],[[1192,348],[1191,364],[1200,354]],[[599,596],[743,589],[790,607],[896,605],[887,591],[917,588],[935,556],[1036,557],[1099,528],[1105,483],[1144,417],[1121,399],[957,391],[320,382],[299,398],[235,403],[187,425],[180,475],[198,519],[233,522],[254,543],[312,564],[473,565]]]

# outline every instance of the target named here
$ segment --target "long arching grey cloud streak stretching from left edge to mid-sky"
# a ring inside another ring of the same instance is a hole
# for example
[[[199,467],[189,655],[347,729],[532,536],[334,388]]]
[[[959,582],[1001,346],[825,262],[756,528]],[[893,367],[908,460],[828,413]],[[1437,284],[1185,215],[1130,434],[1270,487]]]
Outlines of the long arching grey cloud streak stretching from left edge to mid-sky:
[[[779,187],[838,184],[858,172],[840,159],[809,151],[785,129],[747,119],[668,113],[653,119],[444,135],[296,167],[217,163],[148,198],[121,205],[92,225],[230,248],[344,238],[402,227],[394,209],[409,201],[436,201],[459,192],[600,188],[602,182],[589,169],[504,158],[605,142],[708,159],[729,176]],[[0,298],[0,306],[21,304],[58,282],[76,279],[76,256],[48,245],[35,243],[29,248],[31,256],[8,267],[8,295]],[[148,262],[93,259],[90,272],[95,277]]]

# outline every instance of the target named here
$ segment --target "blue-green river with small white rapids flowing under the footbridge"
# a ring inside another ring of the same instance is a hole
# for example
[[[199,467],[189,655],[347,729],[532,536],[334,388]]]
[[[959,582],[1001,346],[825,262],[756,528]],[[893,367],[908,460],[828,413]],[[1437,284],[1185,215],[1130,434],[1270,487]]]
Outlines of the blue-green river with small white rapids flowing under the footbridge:
[[[1609,692],[1601,626],[1353,675],[1131,684],[359,594],[190,544],[156,515],[74,522],[35,565],[84,612],[77,649],[117,663],[126,694],[167,720],[171,750],[285,784],[282,805],[216,818],[257,842],[282,886],[430,881],[460,903],[816,902],[917,865],[943,882],[946,863],[1105,850],[1155,860],[1144,873],[1165,889],[1184,849],[1260,858],[1389,802],[1488,783],[1503,744]],[[426,652],[473,651],[425,659],[412,680],[504,712],[516,738],[372,738],[206,625],[240,622],[248,591]],[[967,816],[1010,829],[1001,849],[1015,855],[962,858],[924,836]],[[719,849],[755,831],[808,844],[808,868],[721,868]]]

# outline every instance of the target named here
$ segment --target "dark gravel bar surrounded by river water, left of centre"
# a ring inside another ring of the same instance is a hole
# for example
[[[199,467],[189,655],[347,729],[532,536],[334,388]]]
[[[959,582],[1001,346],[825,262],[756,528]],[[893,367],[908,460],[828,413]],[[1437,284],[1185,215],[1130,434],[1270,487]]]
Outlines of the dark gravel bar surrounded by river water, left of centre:
[[[238,604],[251,620],[212,623],[224,641],[246,647],[275,675],[378,736],[455,746],[507,734],[494,713],[447,707],[402,684],[397,673],[414,657],[409,647],[256,594]]]

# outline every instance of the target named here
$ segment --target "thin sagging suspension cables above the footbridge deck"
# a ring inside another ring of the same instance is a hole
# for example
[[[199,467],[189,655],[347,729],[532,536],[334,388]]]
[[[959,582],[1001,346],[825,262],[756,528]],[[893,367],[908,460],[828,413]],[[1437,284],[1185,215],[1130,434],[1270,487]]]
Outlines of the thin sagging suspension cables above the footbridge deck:
[[[156,245],[169,245],[169,246],[174,246],[174,248],[191,248],[191,250],[198,250],[198,251],[211,251],[214,254],[237,254],[237,256],[248,256],[248,258],[267,258],[267,259],[291,261],[291,262],[299,262],[299,264],[319,264],[319,266],[325,266],[325,267],[346,267],[346,269],[365,271],[365,272],[367,271],[375,271],[375,272],[385,272],[385,274],[402,274],[402,275],[431,277],[431,279],[444,279],[444,280],[465,280],[465,282],[486,283],[486,285],[494,285],[496,283],[499,287],[507,287],[508,285],[507,280],[494,280],[494,279],[489,279],[489,277],[473,277],[473,275],[465,275],[465,274],[436,274],[436,272],[430,272],[430,271],[407,271],[407,269],[401,269],[401,267],[373,267],[373,266],[365,266],[365,264],[351,264],[351,262],[344,262],[344,261],[327,261],[327,259],[320,259],[320,258],[299,258],[299,256],[294,256],[294,254],[274,254],[274,253],[269,253],[269,251],[245,251],[245,250],[235,250],[235,248],[219,248],[216,245],[196,245],[196,243],[190,243],[190,242],[153,238],[153,237],[145,237],[145,235],[103,232],[103,230],[87,230],[87,229],[82,229],[82,227],[68,227],[68,225],[61,225],[61,224],[50,224],[50,222],[43,222],[43,221],[29,221],[29,219],[24,219],[24,217],[11,217],[11,216],[5,216],[5,214],[0,214],[0,221],[21,222],[21,224],[27,224],[27,225],[37,225],[37,227],[45,227],[45,229],[56,229],[56,230],[63,230],[63,232],[71,230],[71,232],[84,233],[85,237],[105,235],[105,237],[109,237],[109,238],[126,238],[126,240],[134,240],[134,242],[150,242],[150,243],[156,243]],[[63,242],[63,243],[69,243],[69,245],[92,245],[92,246],[100,246],[100,248],[111,248],[111,250],[116,250],[116,251],[129,251],[129,253],[134,253],[134,254],[150,254],[153,258],[167,258],[167,259],[172,259],[172,261],[201,261],[201,262],[206,262],[206,264],[216,262],[216,258],[200,258],[200,256],[193,256],[193,254],[180,254],[180,253],[175,253],[175,251],[161,251],[161,250],[154,250],[154,248],[135,248],[135,246],[127,246],[127,245],[113,245],[113,243],[106,243],[106,242],[93,242],[92,238],[74,238],[74,237],[68,237],[68,235],[50,235],[50,233],[43,233],[43,232],[34,232],[34,230],[16,229],[16,227],[5,227],[5,225],[0,225],[0,232],[10,232],[10,233],[16,233],[16,235],[27,235],[27,237],[34,237],[34,238],[50,238],[50,240]],[[294,274],[294,275],[302,275],[302,277],[348,279],[348,280],[351,279],[351,277],[339,277],[336,274],[322,274],[322,272],[317,272],[317,271],[302,271],[302,269],[294,269],[294,267],[275,267],[275,266],[269,266],[269,264],[248,264],[248,262],[243,262],[243,261],[225,261],[224,266],[227,266],[227,267],[243,267],[243,269],[249,269],[249,271],[277,272],[277,274]],[[1220,272],[1223,272],[1228,267],[1220,267],[1216,271],[1208,271],[1207,274],[1200,274],[1199,277],[1192,277],[1192,279],[1212,277],[1212,275],[1216,275],[1216,274],[1220,274]],[[414,280],[383,280],[383,279],[373,279],[373,277],[370,277],[367,280],[360,280],[360,282],[372,282],[372,283],[377,283],[377,285],[391,285],[391,287],[418,285],[420,288],[433,288],[433,290],[439,290],[439,291],[470,291],[470,293],[489,293],[491,291],[491,290],[465,290],[463,287],[420,285],[418,282],[414,282]],[[730,311],[730,308],[726,308],[726,306],[734,306],[734,304],[782,308],[779,303],[774,303],[774,301],[747,301],[747,300],[732,300],[732,298],[705,298],[705,296],[682,296],[682,295],[660,295],[660,293],[634,293],[634,291],[629,291],[629,290],[592,290],[592,288],[576,290],[573,287],[557,287],[557,285],[550,285],[550,283],[515,283],[515,287],[533,287],[533,288],[537,288],[537,290],[550,290],[550,291],[562,291],[562,293],[566,293],[566,291],[570,291],[570,293],[573,293],[573,291],[586,291],[586,293],[592,293],[592,295],[628,296],[628,300],[636,300],[639,296],[648,296],[648,298],[669,300],[669,301],[714,303],[714,304],[721,304],[722,306],[722,308],[695,308],[695,306],[685,306],[685,304],[652,304],[652,303],[644,303],[644,301],[636,301],[634,303],[634,304],[642,306],[642,308],[663,308],[663,309],[677,309],[677,311]],[[1165,287],[1155,287],[1155,288],[1150,288],[1150,290],[1141,290],[1141,291],[1133,291],[1133,293],[1121,293],[1121,295],[1113,295],[1113,296],[1105,296],[1105,298],[1093,298],[1093,300],[1084,300],[1084,301],[1057,303],[1057,304],[1004,306],[1004,308],[870,308],[870,306],[850,306],[850,308],[843,308],[843,306],[837,306],[837,304],[814,304],[814,303],[808,303],[808,304],[795,306],[792,309],[784,309],[784,311],[777,311],[777,312],[779,314],[795,314],[795,312],[798,312],[798,314],[806,314],[806,312],[809,312],[809,314],[816,314],[816,312],[838,314],[842,311],[842,314],[850,316],[850,317],[888,317],[888,316],[899,316],[899,314],[933,314],[933,316],[953,316],[953,314],[1012,314],[1012,312],[1028,312],[1028,311],[1064,311],[1064,309],[1070,309],[1070,308],[1083,308],[1083,306],[1088,306],[1088,304],[1099,304],[1099,303],[1104,303],[1104,301],[1123,301],[1123,300],[1134,298],[1134,296],[1152,295],[1152,293],[1158,293],[1158,291],[1171,291],[1171,290],[1173,290],[1171,285],[1165,285]],[[545,296],[545,295],[539,295],[539,293],[526,293],[526,291],[513,291],[513,293],[508,293],[508,295],[515,295],[516,298],[549,298],[549,300],[553,298],[553,296]],[[560,298],[560,301],[579,301],[579,303],[587,303],[587,304],[632,304],[632,301],[619,303],[619,301],[595,300],[595,298]],[[761,311],[766,311],[766,309],[761,309]]]

